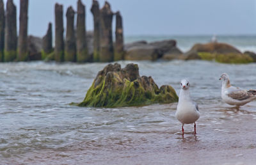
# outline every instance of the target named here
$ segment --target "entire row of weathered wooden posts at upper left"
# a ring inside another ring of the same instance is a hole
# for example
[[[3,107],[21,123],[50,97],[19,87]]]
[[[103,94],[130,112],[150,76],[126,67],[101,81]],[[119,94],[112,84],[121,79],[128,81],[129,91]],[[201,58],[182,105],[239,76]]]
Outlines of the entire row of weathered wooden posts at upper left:
[[[86,43],[85,6],[77,1],[77,12],[68,7],[66,37],[63,33],[63,6],[56,3],[55,13],[55,46],[52,47],[52,24],[49,23],[46,35],[42,39],[42,59],[53,54],[54,60],[88,62],[118,61],[124,59],[124,38],[120,12],[113,13],[110,4],[105,2],[100,9],[99,3],[93,0],[93,54],[89,54]],[[77,14],[76,28],[74,16]],[[13,0],[6,3],[0,0],[0,61],[28,61],[28,0],[20,0],[19,37],[17,37],[16,6]],[[112,20],[116,16],[115,45],[113,44]]]

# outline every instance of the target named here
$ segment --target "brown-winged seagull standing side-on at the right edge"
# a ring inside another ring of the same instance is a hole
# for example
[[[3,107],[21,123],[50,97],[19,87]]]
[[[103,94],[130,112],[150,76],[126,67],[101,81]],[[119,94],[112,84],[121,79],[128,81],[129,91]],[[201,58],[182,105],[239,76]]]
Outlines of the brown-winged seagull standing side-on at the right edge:
[[[221,74],[220,80],[222,80],[221,98],[227,104],[239,107],[256,98],[256,90],[243,90],[231,86],[228,74]]]

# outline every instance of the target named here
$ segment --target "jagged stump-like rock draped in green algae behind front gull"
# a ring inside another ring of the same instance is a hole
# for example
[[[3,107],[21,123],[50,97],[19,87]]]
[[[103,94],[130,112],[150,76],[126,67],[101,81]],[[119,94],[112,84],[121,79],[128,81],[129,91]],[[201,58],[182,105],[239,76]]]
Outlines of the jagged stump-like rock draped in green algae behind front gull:
[[[78,106],[124,107],[145,106],[154,103],[177,102],[172,86],[158,88],[152,77],[141,76],[138,65],[130,63],[125,68],[115,63],[101,70]]]

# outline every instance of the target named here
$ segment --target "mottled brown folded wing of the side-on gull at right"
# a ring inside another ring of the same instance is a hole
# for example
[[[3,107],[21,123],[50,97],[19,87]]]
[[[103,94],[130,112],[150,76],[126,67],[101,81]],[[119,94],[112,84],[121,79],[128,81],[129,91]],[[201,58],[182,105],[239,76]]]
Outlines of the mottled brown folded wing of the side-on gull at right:
[[[256,91],[254,90],[241,90],[241,89],[237,89],[234,91],[230,91],[228,93],[228,97],[233,98],[234,100],[246,100],[247,98],[253,97],[254,95],[256,95]]]

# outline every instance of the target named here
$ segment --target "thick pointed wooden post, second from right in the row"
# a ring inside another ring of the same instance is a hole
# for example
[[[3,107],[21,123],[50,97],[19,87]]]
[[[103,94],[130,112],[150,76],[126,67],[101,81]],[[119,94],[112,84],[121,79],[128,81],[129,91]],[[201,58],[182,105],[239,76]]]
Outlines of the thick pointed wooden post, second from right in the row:
[[[113,12],[106,1],[100,10],[100,62],[109,62],[114,59],[112,20]]]

